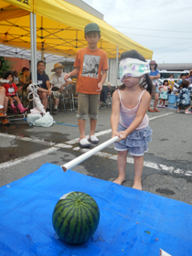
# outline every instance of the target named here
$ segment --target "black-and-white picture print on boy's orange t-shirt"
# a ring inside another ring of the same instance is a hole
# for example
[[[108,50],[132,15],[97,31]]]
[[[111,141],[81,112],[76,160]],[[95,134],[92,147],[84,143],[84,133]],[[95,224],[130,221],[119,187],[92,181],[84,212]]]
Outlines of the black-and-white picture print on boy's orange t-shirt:
[[[84,55],[81,76],[98,79],[100,56]]]

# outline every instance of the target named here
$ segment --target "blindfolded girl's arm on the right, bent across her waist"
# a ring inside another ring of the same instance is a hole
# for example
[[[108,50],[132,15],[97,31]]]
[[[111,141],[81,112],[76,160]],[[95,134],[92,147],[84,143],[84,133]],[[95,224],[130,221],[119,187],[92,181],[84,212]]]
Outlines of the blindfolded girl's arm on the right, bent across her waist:
[[[147,112],[147,109],[149,107],[150,101],[151,101],[151,96],[149,92],[144,91],[136,117],[134,118],[133,123],[131,123],[131,125],[125,131],[119,133],[119,135],[120,134],[122,135],[120,140],[124,140],[130,133],[132,133],[142,123],[144,119],[144,115]]]

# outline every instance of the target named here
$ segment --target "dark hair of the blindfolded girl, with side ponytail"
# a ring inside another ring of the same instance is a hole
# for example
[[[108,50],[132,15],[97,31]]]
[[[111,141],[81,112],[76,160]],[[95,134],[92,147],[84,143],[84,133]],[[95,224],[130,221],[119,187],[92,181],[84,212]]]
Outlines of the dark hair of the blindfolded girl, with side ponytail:
[[[140,53],[138,53],[134,49],[129,50],[129,51],[124,51],[121,54],[121,60],[127,59],[127,58],[139,59],[139,60],[146,62],[146,60],[144,59],[144,56],[141,55]],[[148,74],[144,75],[144,80],[140,83],[140,87],[144,88],[146,91],[149,91],[149,93],[152,94],[153,83],[152,83],[152,80],[150,79],[150,77],[148,76]],[[120,90],[123,90],[124,88],[125,88],[124,84],[120,85],[120,87],[119,87]]]

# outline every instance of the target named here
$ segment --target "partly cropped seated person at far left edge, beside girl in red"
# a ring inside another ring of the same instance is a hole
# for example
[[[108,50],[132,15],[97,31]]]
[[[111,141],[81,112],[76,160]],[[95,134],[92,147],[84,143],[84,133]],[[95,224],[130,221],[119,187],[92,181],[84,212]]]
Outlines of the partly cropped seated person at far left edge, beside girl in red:
[[[0,86],[0,118],[1,123],[6,125],[9,124],[9,121],[6,116],[8,106],[8,97],[5,96],[5,88]]]

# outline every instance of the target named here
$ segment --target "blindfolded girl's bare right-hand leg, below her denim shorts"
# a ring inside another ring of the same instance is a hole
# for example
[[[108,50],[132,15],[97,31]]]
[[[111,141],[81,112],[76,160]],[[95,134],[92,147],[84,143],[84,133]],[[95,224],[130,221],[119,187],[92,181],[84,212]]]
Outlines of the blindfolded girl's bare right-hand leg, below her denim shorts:
[[[144,168],[144,155],[135,156],[134,159],[134,182],[133,188],[142,190],[142,173]]]

